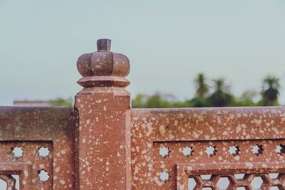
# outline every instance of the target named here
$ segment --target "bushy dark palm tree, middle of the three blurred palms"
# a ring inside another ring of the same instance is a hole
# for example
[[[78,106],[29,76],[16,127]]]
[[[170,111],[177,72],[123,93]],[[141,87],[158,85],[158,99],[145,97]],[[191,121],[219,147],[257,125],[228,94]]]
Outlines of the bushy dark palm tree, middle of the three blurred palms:
[[[209,102],[214,107],[228,106],[234,99],[229,92],[229,85],[225,83],[225,80],[219,78],[214,81],[214,93],[209,96]]]

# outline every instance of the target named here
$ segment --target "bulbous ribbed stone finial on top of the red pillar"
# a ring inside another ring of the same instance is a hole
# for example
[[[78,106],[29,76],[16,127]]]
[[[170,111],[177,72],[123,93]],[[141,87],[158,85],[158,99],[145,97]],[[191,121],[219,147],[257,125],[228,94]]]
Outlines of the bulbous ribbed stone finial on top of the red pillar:
[[[86,53],[77,60],[77,69],[83,76],[78,84],[85,87],[126,87],[125,77],[130,72],[130,61],[120,53],[110,51],[111,41],[99,39],[97,51]]]

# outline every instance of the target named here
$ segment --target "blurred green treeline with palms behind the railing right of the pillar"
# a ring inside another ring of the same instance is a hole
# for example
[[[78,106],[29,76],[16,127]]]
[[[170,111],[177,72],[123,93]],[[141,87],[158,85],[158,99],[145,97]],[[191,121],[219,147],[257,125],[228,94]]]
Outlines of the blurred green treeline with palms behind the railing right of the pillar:
[[[279,78],[268,75],[261,83],[261,90],[245,91],[240,97],[233,95],[226,80],[207,80],[199,73],[195,82],[195,97],[190,100],[175,100],[173,95],[155,93],[139,94],[132,100],[132,107],[229,107],[229,106],[271,106],[279,105],[278,97],[281,88]],[[209,82],[212,82],[210,85]]]

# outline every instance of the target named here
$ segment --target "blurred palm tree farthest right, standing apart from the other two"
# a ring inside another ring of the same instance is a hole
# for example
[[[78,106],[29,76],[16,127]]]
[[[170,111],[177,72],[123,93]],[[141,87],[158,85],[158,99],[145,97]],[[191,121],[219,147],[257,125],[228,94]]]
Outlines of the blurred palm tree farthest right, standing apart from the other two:
[[[268,75],[262,83],[262,105],[278,105],[280,83],[279,78]]]

